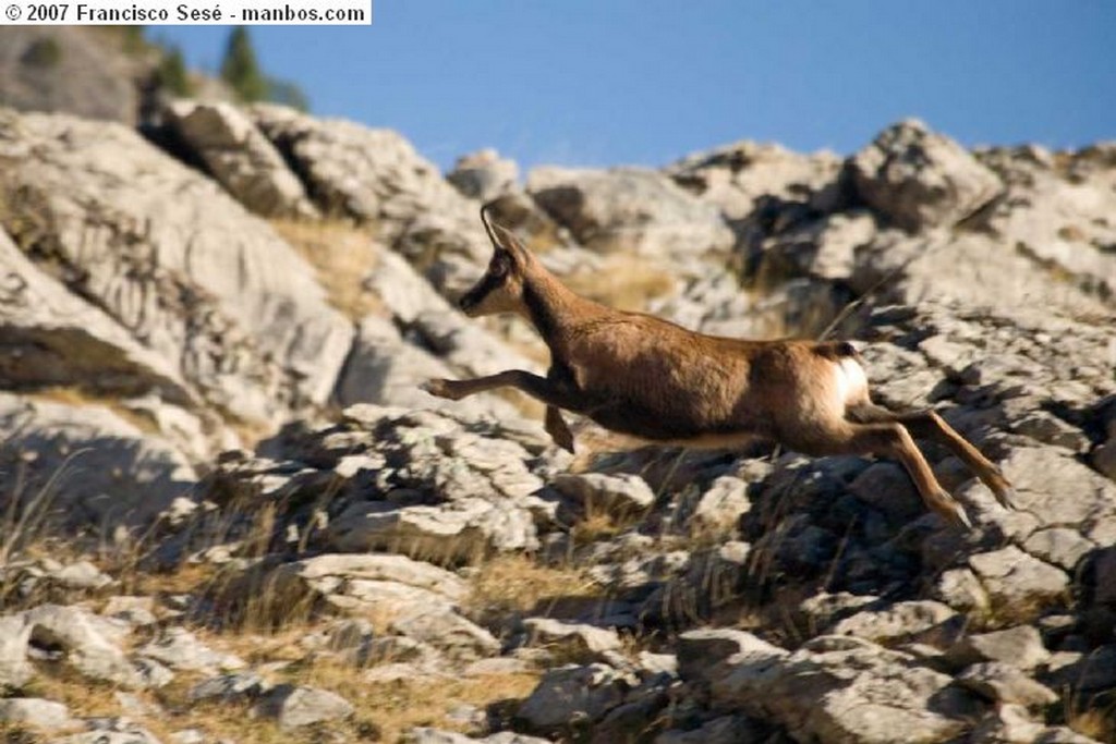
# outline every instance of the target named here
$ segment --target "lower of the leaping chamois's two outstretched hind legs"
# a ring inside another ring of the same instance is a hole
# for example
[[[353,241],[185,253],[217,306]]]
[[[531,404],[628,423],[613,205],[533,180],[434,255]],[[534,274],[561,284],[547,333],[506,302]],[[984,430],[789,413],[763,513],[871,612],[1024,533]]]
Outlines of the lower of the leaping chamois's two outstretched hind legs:
[[[828,432],[825,441],[814,450],[819,454],[877,454],[894,457],[903,463],[926,506],[950,522],[972,528],[964,506],[937,482],[926,458],[911,438],[911,433],[902,424],[894,422],[879,424],[843,422],[841,424],[837,431]]]

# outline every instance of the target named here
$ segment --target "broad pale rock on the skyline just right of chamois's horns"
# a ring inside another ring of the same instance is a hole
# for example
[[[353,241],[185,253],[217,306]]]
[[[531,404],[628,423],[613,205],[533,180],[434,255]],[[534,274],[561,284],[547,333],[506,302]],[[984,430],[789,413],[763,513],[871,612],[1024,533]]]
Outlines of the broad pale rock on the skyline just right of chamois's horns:
[[[666,176],[639,168],[536,168],[535,201],[574,238],[600,252],[687,257],[732,247],[720,212]]]

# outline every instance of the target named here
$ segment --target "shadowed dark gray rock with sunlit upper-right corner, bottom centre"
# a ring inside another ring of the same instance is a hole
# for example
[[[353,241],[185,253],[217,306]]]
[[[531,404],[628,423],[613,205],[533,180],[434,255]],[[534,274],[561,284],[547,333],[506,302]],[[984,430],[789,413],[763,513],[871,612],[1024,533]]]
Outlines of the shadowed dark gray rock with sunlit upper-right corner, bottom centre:
[[[605,664],[550,669],[516,717],[533,731],[556,732],[600,721],[636,680]]]

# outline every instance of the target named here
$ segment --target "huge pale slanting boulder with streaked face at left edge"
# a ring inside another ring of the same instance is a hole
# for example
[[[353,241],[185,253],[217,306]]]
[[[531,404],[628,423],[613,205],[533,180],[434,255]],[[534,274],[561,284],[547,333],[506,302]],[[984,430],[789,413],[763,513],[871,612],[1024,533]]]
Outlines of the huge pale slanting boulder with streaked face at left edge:
[[[136,133],[0,110],[0,199],[29,257],[220,410],[272,422],[333,390],[353,331],[306,262]]]

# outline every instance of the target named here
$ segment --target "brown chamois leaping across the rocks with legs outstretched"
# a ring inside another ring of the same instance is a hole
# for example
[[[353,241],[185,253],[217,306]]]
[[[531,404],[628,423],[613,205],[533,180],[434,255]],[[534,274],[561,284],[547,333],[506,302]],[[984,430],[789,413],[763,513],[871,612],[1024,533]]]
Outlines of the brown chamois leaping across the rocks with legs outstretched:
[[[733,448],[767,439],[804,454],[875,453],[903,463],[926,505],[971,526],[964,508],[934,477],[912,438],[937,439],[999,502],[1011,486],[999,468],[933,410],[893,413],[872,403],[852,344],[741,340],[706,336],[654,316],[615,310],[579,297],[508,230],[481,221],[493,253],[480,281],[461,297],[469,317],[517,313],[550,349],[546,377],[511,369],[475,379],[432,379],[423,388],[458,400],[498,387],[546,404],[546,431],[573,452],[560,408],[606,429],[653,444]]]

